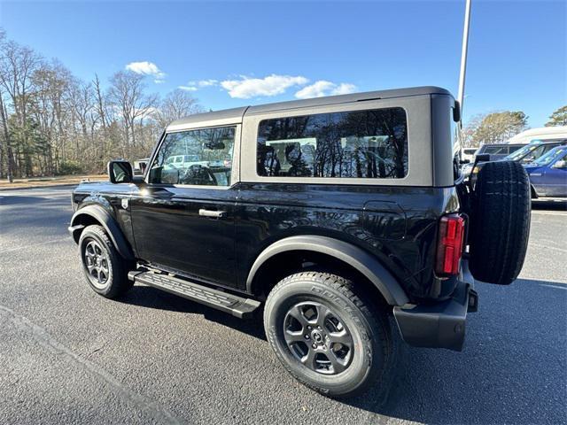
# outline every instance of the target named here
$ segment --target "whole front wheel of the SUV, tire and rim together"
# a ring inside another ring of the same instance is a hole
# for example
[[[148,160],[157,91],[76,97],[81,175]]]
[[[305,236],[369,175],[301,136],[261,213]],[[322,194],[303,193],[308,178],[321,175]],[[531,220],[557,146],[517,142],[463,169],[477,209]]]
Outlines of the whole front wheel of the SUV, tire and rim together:
[[[105,298],[118,298],[132,287],[130,262],[122,259],[101,226],[88,226],[79,239],[82,269],[89,286]]]

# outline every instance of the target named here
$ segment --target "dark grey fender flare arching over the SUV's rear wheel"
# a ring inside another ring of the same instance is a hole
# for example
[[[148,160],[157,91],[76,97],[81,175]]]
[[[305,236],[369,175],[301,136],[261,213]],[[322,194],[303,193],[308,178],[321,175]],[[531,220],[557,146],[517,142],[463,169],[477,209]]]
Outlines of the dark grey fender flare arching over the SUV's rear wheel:
[[[400,283],[368,252],[338,239],[326,236],[290,236],[272,243],[252,264],[246,279],[246,290],[252,291],[254,276],[265,261],[285,251],[315,251],[340,259],[356,268],[376,286],[389,305],[405,305],[409,299]]]

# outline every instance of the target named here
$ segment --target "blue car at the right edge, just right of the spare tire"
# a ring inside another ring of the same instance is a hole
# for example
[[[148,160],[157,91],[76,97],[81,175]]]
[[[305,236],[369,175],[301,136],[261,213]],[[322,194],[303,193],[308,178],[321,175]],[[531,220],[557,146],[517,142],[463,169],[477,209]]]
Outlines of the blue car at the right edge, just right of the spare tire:
[[[567,197],[567,146],[557,146],[524,167],[532,197]]]

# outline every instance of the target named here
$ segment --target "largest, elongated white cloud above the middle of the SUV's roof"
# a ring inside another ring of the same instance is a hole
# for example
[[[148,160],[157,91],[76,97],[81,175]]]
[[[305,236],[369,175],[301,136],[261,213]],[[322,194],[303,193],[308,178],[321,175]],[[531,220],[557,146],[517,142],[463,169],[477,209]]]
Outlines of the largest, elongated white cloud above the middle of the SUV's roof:
[[[302,76],[276,75],[264,78],[249,78],[241,76],[240,80],[221,81],[221,87],[229,92],[230,97],[248,99],[255,96],[281,95],[292,86],[301,86],[309,82]]]

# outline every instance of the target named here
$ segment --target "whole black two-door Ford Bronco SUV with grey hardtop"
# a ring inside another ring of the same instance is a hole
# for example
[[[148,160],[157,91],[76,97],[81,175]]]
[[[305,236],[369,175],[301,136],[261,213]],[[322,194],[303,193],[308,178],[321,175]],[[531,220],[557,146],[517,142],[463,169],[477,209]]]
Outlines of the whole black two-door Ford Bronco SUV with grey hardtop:
[[[98,294],[139,282],[239,318],[263,310],[291,375],[353,395],[384,378],[392,332],[462,350],[474,279],[509,284],[523,265],[524,169],[485,162],[463,182],[459,120],[436,87],[192,115],[143,176],[118,160],[110,182],[80,184],[69,231]]]

